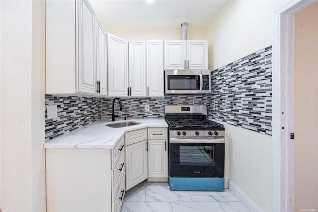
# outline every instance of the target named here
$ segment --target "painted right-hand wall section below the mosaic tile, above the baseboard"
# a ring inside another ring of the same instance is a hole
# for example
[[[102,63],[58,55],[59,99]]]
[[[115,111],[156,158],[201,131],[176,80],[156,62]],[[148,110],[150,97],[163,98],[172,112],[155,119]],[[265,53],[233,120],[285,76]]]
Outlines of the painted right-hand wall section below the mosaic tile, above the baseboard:
[[[230,180],[263,211],[272,210],[272,137],[229,125]]]

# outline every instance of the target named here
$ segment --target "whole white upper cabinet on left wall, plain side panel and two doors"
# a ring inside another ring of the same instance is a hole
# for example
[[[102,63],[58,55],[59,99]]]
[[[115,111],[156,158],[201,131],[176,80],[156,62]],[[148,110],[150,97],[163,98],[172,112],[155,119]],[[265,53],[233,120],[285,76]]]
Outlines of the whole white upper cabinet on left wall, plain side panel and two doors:
[[[87,0],[47,1],[45,93],[106,95],[105,44]]]

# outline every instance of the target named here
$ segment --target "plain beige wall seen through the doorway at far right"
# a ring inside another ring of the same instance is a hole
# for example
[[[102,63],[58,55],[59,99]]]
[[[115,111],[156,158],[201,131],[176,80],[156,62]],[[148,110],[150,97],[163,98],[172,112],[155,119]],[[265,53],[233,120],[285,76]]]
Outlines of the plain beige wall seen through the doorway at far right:
[[[318,209],[317,82],[318,2],[295,15],[295,212]]]

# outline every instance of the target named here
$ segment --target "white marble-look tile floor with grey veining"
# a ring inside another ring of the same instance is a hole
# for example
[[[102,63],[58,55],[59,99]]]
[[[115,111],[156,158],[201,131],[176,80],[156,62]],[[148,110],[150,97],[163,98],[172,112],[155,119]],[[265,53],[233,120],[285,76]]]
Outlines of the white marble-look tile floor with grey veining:
[[[224,192],[170,191],[168,183],[144,181],[125,194],[121,212],[248,212]]]

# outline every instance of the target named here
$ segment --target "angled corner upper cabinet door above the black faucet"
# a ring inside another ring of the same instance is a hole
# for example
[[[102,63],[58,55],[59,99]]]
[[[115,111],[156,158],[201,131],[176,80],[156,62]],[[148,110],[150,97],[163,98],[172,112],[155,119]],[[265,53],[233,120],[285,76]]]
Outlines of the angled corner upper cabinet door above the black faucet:
[[[108,96],[128,96],[128,42],[109,34],[108,42]]]

